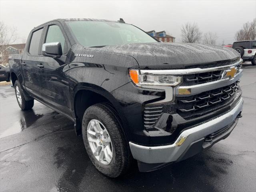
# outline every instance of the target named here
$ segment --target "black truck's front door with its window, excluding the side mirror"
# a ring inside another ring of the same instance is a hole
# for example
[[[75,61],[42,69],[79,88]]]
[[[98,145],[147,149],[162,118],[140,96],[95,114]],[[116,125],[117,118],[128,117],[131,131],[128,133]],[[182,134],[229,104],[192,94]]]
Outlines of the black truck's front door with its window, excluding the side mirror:
[[[68,65],[66,63],[70,44],[58,22],[46,26],[42,44],[51,42],[61,43],[63,55],[61,58],[48,56],[40,58],[42,64],[39,71],[42,80],[41,96],[44,98],[43,102],[71,116]]]

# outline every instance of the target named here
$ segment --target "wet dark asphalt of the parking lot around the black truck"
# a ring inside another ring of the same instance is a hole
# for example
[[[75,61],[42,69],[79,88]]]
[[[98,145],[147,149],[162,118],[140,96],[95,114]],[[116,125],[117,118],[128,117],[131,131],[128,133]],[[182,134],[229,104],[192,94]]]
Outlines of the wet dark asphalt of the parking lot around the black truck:
[[[1,86],[0,191],[256,191],[256,66],[243,69],[243,117],[228,138],[160,170],[140,173],[134,165],[114,179],[94,168],[68,118],[39,102],[22,111],[14,89]]]

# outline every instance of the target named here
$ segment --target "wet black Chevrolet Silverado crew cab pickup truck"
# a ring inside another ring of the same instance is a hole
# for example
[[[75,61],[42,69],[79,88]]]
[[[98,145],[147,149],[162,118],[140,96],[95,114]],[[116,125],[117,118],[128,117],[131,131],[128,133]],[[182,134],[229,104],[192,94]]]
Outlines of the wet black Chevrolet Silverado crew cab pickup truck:
[[[156,170],[226,138],[241,117],[241,63],[234,49],[159,42],[121,19],[46,22],[9,58],[20,108],[36,99],[74,121],[110,177],[134,159]]]

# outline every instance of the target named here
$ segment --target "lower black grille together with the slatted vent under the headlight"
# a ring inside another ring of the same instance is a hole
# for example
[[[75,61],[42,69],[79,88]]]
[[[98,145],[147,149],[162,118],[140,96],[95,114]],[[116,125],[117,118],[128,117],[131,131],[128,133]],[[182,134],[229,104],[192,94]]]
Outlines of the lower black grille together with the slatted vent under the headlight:
[[[207,119],[228,110],[228,106],[241,96],[240,80],[235,83],[202,92],[194,96],[176,97],[174,102],[148,105],[144,108],[144,128],[151,129],[163,113],[179,114],[185,120]],[[218,111],[218,112],[217,112]],[[203,118],[204,116],[204,118]]]

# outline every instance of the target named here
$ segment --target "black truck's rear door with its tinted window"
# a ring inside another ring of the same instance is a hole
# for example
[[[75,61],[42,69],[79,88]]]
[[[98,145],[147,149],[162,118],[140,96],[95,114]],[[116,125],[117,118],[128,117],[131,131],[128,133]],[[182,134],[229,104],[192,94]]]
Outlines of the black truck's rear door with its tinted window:
[[[36,99],[41,98],[42,82],[40,78],[41,64],[40,47],[42,42],[42,34],[44,28],[39,28],[32,33],[28,38],[29,45],[26,46],[22,56],[22,73],[24,77],[24,85],[26,90]]]

